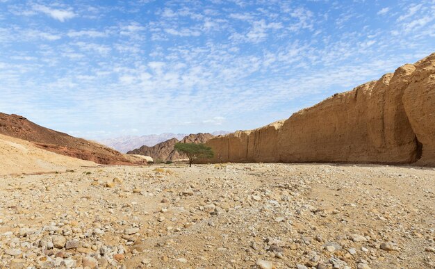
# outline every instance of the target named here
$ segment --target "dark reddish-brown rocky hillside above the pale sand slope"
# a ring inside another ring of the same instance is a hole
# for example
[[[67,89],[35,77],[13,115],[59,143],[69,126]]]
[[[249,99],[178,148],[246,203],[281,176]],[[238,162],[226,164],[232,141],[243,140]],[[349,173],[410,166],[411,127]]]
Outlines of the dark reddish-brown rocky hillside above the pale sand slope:
[[[100,164],[131,164],[120,152],[35,124],[19,115],[0,113],[0,134],[33,142],[50,152]]]

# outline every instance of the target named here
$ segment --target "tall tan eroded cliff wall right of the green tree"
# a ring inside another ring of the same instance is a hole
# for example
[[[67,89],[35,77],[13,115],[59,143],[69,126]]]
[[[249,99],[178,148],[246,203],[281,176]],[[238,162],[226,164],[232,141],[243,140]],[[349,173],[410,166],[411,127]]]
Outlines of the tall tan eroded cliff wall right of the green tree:
[[[435,165],[435,54],[288,120],[207,142],[214,162]]]

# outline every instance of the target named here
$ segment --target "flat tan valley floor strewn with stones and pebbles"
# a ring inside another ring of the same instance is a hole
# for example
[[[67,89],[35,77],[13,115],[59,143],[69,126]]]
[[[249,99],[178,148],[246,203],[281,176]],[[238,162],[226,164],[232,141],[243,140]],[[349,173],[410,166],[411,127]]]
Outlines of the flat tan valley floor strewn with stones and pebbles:
[[[434,268],[434,179],[279,163],[1,176],[0,267]]]

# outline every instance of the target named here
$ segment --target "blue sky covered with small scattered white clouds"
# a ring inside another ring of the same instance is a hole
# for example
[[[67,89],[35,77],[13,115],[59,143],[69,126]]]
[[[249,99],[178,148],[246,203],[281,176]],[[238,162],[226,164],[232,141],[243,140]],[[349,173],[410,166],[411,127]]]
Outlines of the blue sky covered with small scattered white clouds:
[[[435,0],[0,0],[0,111],[85,138],[252,129],[435,51]]]

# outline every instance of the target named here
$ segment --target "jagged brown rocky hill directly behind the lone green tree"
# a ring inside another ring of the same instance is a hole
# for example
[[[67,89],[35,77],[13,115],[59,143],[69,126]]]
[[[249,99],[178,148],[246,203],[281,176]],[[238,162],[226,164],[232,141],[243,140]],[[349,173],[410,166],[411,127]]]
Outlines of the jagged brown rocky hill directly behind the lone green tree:
[[[158,143],[154,147],[148,147],[144,145],[138,149],[133,149],[127,152],[127,154],[140,154],[150,156],[154,159],[154,161],[174,161],[185,158],[183,156],[180,156],[178,152],[174,151],[174,145],[177,142],[199,144],[205,143],[213,137],[214,136],[211,133],[192,133],[188,136],[185,136],[181,140],[178,140],[177,138],[172,138],[170,140],[166,140],[165,142]]]

